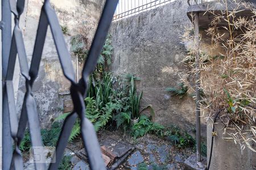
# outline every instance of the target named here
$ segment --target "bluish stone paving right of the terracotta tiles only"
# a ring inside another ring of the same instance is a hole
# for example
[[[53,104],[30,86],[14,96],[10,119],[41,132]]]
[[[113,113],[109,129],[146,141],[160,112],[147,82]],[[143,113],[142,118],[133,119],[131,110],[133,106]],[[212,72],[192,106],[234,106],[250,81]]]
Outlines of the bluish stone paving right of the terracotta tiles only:
[[[146,135],[143,138],[133,139],[122,135],[120,132],[101,131],[100,137],[111,136],[118,141],[134,145],[135,151],[127,158],[126,162],[119,166],[119,169],[138,169],[139,165],[144,164],[144,169],[183,169],[184,161],[193,153],[192,148],[178,150],[170,142]]]

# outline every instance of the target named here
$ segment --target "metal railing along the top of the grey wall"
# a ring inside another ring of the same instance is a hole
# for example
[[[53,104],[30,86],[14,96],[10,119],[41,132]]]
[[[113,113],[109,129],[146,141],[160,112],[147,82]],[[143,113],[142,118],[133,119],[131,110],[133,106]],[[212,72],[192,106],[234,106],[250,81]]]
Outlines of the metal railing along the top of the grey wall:
[[[176,0],[119,0],[113,20],[120,20]]]

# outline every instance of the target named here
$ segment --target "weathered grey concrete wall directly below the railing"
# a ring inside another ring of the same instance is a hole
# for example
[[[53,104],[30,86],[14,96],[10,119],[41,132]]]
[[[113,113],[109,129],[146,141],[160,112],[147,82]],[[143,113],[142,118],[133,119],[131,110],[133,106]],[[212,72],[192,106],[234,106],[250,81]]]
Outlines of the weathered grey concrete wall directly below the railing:
[[[117,75],[133,73],[141,78],[138,90],[143,90],[142,105],[152,104],[156,122],[192,130],[195,101],[190,96],[179,99],[165,91],[167,87],[178,87],[181,78],[191,81],[181,63],[186,49],[180,43],[180,36],[184,27],[191,25],[187,7],[187,1],[177,0],[114,22],[112,67]],[[169,73],[163,73],[165,67]],[[205,126],[203,134],[206,134]]]

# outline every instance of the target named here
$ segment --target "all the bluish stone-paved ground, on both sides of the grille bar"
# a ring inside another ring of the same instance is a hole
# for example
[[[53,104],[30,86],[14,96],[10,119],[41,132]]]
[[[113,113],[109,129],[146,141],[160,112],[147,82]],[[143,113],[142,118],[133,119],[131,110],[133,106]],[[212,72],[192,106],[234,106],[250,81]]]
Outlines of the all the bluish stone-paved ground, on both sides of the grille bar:
[[[103,130],[98,134],[101,141],[106,138],[113,138],[118,142],[129,143],[135,147],[134,152],[127,160],[119,166],[118,169],[136,170],[142,164],[144,169],[183,169],[184,161],[192,154],[191,148],[178,150],[171,145],[170,142],[155,137],[154,135],[146,135],[143,138],[133,139],[132,137],[123,134],[120,131]],[[88,163],[80,159],[76,152],[81,150],[82,142],[77,139],[75,142],[69,143],[65,150],[65,155],[71,155],[72,169],[86,170],[89,169]],[[26,170],[34,169],[34,165],[26,163]]]

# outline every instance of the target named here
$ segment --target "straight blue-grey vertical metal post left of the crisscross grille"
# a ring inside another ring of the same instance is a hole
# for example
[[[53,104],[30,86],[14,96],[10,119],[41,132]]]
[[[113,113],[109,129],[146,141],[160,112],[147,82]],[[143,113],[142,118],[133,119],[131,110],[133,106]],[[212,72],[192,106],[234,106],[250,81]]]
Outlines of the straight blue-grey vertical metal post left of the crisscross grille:
[[[2,0],[2,169],[10,169],[12,158],[12,140],[10,130],[10,118],[5,91],[5,78],[11,48],[11,10],[9,0]]]

